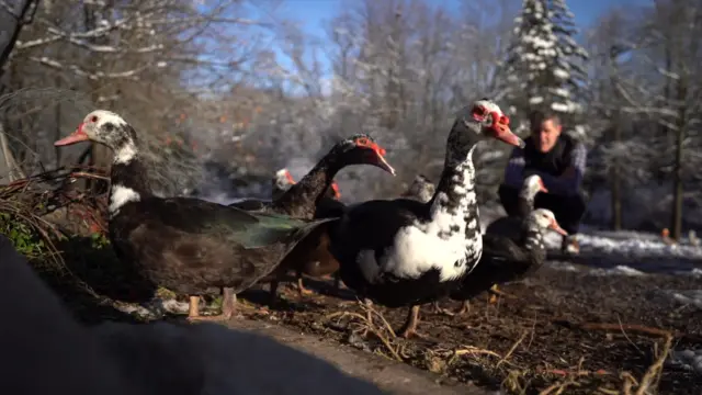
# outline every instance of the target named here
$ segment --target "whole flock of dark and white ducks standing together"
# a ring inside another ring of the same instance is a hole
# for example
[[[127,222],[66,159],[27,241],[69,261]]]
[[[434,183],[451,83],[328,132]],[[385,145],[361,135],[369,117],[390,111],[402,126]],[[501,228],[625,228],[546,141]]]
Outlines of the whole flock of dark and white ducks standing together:
[[[135,287],[188,295],[189,321],[229,319],[236,295],[261,282],[270,282],[274,303],[278,284],[292,270],[301,294],[309,292],[303,274],[332,275],[337,290],[343,282],[366,304],[408,307],[398,336],[411,337],[420,336],[421,305],[439,308],[435,303],[450,297],[465,311],[475,295],[539,269],[546,229],[565,234],[552,212],[533,210],[534,195],[545,192],[537,177],[524,181],[521,217],[498,219],[482,234],[473,151],[490,138],[524,146],[495,102],[477,100],[453,123],[435,185],[417,176],[398,199],[350,205],[339,201],[333,181],[342,168],[371,165],[395,176],[385,149],[365,134],[339,142],[299,182],[279,171],[272,200],[230,205],[155,195],[137,132],[113,112],[91,112],[55,145],[91,140],[114,151],[109,203],[114,251],[145,280]],[[201,296],[219,293],[222,313],[201,315]]]

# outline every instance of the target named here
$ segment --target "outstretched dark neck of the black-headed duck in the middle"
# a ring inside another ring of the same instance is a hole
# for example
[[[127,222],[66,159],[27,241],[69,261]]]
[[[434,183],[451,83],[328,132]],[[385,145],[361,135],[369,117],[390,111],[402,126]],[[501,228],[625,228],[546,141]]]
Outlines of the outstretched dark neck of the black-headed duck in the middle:
[[[273,210],[296,218],[312,219],[339,169],[338,163],[324,158],[273,202]]]

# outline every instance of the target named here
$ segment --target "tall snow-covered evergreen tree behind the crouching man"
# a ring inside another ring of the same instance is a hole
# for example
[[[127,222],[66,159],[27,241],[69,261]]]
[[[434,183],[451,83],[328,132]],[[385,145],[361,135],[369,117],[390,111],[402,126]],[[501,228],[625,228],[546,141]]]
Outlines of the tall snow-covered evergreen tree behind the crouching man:
[[[551,110],[563,117],[566,131],[584,133],[578,123],[588,54],[574,38],[574,18],[565,0],[523,1],[502,65],[505,102],[516,124],[526,126],[533,110]]]

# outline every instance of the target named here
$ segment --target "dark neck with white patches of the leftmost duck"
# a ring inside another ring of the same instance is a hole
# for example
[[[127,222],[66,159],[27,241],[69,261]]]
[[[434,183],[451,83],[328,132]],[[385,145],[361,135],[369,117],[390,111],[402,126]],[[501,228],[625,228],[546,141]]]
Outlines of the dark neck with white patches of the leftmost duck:
[[[129,202],[138,202],[151,195],[146,166],[141,162],[136,144],[127,139],[114,150],[110,185],[110,217]]]

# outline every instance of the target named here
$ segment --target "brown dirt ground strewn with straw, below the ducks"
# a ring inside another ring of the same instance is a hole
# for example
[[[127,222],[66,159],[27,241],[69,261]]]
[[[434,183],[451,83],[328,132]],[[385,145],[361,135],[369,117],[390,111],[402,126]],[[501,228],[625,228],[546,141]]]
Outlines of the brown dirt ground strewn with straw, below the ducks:
[[[350,294],[337,297],[327,283],[306,284],[318,293],[301,297],[286,289],[283,301],[268,314],[250,308],[242,308],[242,314],[490,391],[539,394],[553,386],[555,393],[563,384],[565,394],[622,391],[624,375],[641,381],[664,349],[664,337],[655,329],[675,334],[673,349],[702,348],[702,312],[661,294],[699,290],[702,280],[693,276],[601,276],[546,267],[521,283],[501,286],[506,295],[494,304],[487,294],[479,295],[464,316],[422,307],[419,330],[427,339],[410,340],[392,339],[378,329],[384,326],[380,318],[374,324],[377,335],[363,338],[358,332],[367,325],[352,315],[363,315],[363,309]],[[258,305],[263,294],[248,292],[244,297]],[[458,307],[451,301],[442,306]],[[393,328],[407,314],[404,308],[377,312]],[[702,375],[664,366],[659,394],[701,392]]]

